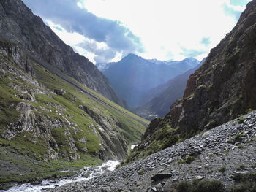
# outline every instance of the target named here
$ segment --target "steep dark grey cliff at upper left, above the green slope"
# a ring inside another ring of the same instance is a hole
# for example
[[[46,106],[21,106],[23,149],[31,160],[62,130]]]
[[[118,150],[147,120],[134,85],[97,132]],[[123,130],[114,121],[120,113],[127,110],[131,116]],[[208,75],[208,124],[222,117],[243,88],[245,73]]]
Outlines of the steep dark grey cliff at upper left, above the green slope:
[[[65,45],[22,1],[0,2],[0,37],[19,44],[37,58],[55,66],[117,104],[125,106],[124,101],[118,99],[108,79],[97,67]]]

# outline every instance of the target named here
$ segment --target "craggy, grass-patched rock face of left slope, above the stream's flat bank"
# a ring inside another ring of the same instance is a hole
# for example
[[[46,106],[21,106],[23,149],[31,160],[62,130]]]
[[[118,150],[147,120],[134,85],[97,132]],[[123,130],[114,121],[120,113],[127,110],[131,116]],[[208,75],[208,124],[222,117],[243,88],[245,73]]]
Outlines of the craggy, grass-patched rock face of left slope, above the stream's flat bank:
[[[86,107],[84,101],[70,95],[72,97],[67,99],[70,99],[73,109],[80,108],[85,117],[83,120],[89,122],[87,125],[78,124],[78,119],[67,113],[69,109],[65,102],[53,99],[53,96],[64,98],[64,95],[70,94],[69,90],[46,88],[35,78],[41,72],[36,72],[35,68],[37,64],[27,57],[20,46],[0,41],[0,81],[4,84],[0,91],[0,113],[10,115],[6,117],[10,120],[0,118],[0,139],[9,142],[17,140],[20,146],[27,142],[41,147],[34,151],[40,153],[35,158],[43,161],[59,158],[75,161],[80,159],[81,154],[88,153],[102,160],[127,156],[127,143],[119,131],[120,122],[116,118],[104,114],[97,107]],[[10,100],[5,91],[10,92]],[[7,99],[6,103],[4,99]],[[75,102],[83,105],[77,106]],[[91,145],[97,146],[94,151],[87,147],[89,139]],[[26,151],[31,150],[26,147]]]

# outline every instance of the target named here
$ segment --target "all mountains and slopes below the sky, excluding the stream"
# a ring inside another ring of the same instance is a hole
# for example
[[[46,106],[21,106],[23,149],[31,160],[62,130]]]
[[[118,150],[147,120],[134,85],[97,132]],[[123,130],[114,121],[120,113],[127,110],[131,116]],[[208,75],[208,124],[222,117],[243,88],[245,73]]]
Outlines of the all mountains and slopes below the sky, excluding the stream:
[[[44,191],[256,191],[255,42],[252,0],[201,63],[129,54],[98,64],[108,82],[23,1],[1,0],[0,189],[79,175]]]

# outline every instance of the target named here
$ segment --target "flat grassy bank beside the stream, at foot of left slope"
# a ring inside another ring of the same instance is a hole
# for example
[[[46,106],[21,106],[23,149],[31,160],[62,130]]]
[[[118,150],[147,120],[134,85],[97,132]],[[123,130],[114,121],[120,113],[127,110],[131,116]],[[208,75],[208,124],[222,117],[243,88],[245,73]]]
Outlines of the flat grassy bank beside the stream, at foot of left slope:
[[[80,155],[77,161],[66,161],[64,158],[56,161],[44,162],[28,158],[17,153],[0,153],[0,161],[9,162],[10,167],[17,169],[12,173],[1,172],[0,186],[10,182],[31,182],[53,177],[72,176],[83,169],[84,166],[97,166],[102,163],[99,158],[92,155]]]

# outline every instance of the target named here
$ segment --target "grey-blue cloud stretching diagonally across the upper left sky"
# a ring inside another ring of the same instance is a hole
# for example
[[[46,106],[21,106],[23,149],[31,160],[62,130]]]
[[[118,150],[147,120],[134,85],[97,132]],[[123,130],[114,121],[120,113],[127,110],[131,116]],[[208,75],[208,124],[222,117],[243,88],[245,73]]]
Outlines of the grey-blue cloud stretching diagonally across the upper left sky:
[[[114,53],[125,55],[144,52],[140,37],[135,36],[129,28],[126,28],[118,20],[99,18],[86,9],[81,9],[81,6],[78,6],[78,0],[23,1],[35,14],[40,15],[45,20],[59,24],[67,32],[82,34],[95,42],[105,42],[108,45],[108,49],[105,49],[107,53],[103,53],[104,49],[95,47],[95,45],[86,46],[87,42],[84,42],[84,48],[87,47],[90,51],[96,51],[94,53],[97,55],[96,58],[109,58],[110,60],[111,57],[115,58]]]

